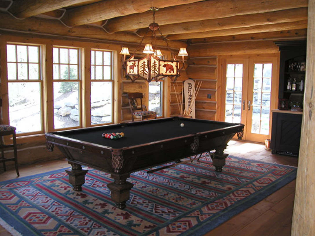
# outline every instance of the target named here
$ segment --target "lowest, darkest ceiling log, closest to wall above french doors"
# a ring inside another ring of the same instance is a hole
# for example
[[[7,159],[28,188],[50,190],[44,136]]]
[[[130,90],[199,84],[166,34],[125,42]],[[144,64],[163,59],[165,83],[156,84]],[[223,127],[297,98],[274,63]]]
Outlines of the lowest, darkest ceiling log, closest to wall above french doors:
[[[307,29],[285,30],[276,32],[263,32],[256,34],[238,34],[222,37],[195,38],[189,40],[189,44],[230,42],[230,41],[252,41],[252,40],[281,40],[286,38],[306,39]]]

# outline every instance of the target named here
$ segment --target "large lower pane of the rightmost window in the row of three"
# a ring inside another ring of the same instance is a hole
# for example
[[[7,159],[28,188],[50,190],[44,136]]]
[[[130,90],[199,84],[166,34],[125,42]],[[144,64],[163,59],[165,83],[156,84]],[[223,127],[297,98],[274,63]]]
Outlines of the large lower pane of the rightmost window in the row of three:
[[[91,124],[112,122],[112,82],[91,82]]]

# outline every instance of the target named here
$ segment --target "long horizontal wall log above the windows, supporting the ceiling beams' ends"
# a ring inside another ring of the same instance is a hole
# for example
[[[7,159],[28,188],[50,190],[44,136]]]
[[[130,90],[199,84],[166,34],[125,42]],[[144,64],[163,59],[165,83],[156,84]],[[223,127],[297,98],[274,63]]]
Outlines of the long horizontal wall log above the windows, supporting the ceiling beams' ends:
[[[49,34],[67,37],[99,39],[103,41],[110,41],[115,44],[133,43],[138,45],[141,38],[130,32],[119,32],[115,34],[108,34],[101,27],[91,25],[81,25],[73,28],[67,28],[60,21],[29,17],[25,20],[17,20],[8,13],[0,12],[1,29],[8,31],[19,31],[25,33],[35,34]],[[143,44],[150,43],[151,38],[147,37],[143,40]],[[185,42],[169,41],[171,48],[186,47]],[[157,38],[157,45],[159,47],[167,48],[163,39]]]

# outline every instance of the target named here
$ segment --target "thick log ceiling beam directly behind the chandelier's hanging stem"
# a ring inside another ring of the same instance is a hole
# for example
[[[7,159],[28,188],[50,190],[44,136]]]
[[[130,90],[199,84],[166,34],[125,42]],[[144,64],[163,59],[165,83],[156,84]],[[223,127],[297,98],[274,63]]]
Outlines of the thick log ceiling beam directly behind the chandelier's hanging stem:
[[[167,25],[307,6],[308,0],[203,1],[160,9],[155,14],[155,22],[159,25]],[[192,12],[194,14],[192,14]],[[104,28],[107,32],[114,33],[118,31],[145,28],[152,23],[152,21],[152,12],[144,12],[110,19],[107,21]]]

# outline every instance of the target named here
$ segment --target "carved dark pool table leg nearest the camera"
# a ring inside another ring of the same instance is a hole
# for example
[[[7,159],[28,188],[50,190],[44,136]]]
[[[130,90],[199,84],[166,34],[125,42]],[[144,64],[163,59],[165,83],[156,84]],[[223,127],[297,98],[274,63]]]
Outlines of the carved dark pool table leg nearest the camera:
[[[122,176],[112,174],[111,177],[114,179],[114,182],[107,184],[107,187],[111,190],[112,200],[117,208],[124,209],[126,201],[129,200],[129,191],[134,185],[126,181],[129,174]]]

